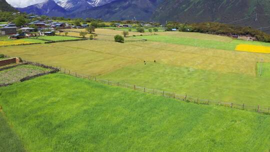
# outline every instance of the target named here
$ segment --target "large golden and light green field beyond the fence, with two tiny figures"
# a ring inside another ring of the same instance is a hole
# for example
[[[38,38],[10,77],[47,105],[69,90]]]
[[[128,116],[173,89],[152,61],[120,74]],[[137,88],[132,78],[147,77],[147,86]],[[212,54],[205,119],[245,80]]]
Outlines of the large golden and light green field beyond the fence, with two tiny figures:
[[[195,35],[189,35],[192,36]],[[201,40],[216,38],[209,34],[198,36]],[[234,41],[221,38],[216,39]],[[270,54],[265,53],[157,41],[116,43],[102,40],[4,47],[0,53],[60,66],[62,70],[66,68],[78,74],[186,93],[200,99],[266,107],[270,104],[267,91],[270,77],[267,74],[259,76],[257,69],[261,58],[263,63],[270,62]],[[268,70],[268,66],[263,66],[262,73]]]

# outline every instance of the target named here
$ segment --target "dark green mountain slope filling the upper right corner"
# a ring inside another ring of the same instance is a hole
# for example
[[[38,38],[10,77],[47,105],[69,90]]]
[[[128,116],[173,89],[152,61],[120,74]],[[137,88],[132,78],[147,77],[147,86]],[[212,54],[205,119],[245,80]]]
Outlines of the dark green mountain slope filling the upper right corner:
[[[260,27],[270,23],[269,8],[270,0],[165,0],[152,19],[163,23],[218,21]]]

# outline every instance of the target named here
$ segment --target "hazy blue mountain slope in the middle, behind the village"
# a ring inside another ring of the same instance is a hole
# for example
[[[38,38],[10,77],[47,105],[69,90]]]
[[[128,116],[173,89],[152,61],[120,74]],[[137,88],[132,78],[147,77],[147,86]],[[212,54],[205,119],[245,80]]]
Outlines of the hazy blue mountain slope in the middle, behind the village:
[[[160,0],[115,0],[102,6],[93,7],[69,17],[94,17],[104,20],[133,19],[148,20]]]

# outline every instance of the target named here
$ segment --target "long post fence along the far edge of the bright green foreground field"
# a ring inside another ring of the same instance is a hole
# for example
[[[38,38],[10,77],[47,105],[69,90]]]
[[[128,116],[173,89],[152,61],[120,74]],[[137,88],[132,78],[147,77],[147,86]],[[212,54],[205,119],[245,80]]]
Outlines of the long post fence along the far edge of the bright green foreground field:
[[[185,102],[192,102],[195,104],[206,104],[206,105],[221,105],[229,108],[236,108],[236,109],[241,109],[241,110],[248,110],[248,111],[254,111],[258,113],[263,113],[263,114],[270,114],[270,106],[260,106],[260,105],[247,105],[247,104],[236,104],[233,102],[227,102],[227,101],[217,101],[217,100],[208,100],[208,99],[201,99],[198,97],[193,97],[189,96],[188,94],[177,94],[174,92],[169,92],[169,91],[164,91],[164,90],[158,90],[155,88],[146,88],[146,87],[141,87],[137,85],[131,85],[127,83],[121,83],[121,82],[116,82],[116,81],[111,81],[111,80],[104,80],[104,79],[99,79],[95,76],[90,76],[90,75],[82,75],[77,72],[70,71],[69,69],[66,68],[59,68],[61,72],[64,74],[72,75],[75,77],[79,78],[84,78],[88,80],[93,80],[99,83],[107,84],[107,85],[112,85],[112,86],[118,86],[118,87],[125,87],[129,89],[133,89],[136,91],[140,92],[145,92],[145,93],[150,93],[154,95],[159,95],[159,96],[164,96],[164,97],[169,97],[169,98],[175,98],[181,101]]]

